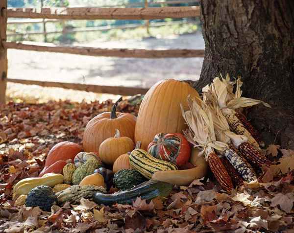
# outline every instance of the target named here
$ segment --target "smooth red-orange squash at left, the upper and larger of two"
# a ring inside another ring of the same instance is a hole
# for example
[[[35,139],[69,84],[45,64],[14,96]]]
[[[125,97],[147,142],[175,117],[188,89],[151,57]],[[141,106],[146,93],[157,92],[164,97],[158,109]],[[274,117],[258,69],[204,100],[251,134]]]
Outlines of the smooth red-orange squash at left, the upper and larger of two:
[[[82,150],[83,148],[80,145],[71,141],[57,143],[51,148],[47,155],[44,170],[59,160],[73,160],[76,154]]]

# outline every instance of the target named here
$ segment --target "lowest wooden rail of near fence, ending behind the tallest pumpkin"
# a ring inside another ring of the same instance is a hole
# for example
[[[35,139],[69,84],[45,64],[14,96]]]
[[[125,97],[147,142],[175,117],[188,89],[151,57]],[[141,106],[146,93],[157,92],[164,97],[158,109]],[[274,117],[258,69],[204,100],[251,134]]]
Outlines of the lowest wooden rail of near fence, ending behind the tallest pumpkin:
[[[148,89],[136,88],[136,87],[98,86],[98,85],[85,85],[85,84],[78,84],[78,83],[60,83],[60,82],[11,79],[11,78],[8,78],[7,81],[13,82],[13,83],[26,84],[26,85],[39,85],[42,87],[57,87],[57,88],[73,89],[78,91],[119,94],[119,95],[145,94],[148,91]]]

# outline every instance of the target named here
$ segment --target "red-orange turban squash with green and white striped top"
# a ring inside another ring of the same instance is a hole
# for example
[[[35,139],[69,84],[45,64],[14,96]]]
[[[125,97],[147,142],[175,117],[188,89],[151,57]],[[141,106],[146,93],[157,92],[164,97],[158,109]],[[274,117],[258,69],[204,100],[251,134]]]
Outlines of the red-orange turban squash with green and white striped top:
[[[182,134],[159,133],[155,135],[154,140],[148,145],[148,153],[157,159],[180,166],[188,163],[191,148]]]

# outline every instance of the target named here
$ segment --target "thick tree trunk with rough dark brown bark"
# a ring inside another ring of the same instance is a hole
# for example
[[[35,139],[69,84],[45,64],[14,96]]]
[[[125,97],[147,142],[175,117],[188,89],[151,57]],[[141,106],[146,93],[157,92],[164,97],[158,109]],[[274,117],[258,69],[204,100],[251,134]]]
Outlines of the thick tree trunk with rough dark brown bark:
[[[294,148],[294,1],[201,0],[205,57],[196,89],[220,73],[242,77],[243,96],[268,102],[248,116],[266,143]]]

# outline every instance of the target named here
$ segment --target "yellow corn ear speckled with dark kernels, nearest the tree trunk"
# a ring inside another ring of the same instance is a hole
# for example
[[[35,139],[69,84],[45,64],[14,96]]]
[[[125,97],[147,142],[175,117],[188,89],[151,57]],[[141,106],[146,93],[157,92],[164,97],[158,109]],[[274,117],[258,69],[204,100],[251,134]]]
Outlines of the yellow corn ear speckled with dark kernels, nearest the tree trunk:
[[[248,142],[250,144],[252,144],[256,150],[258,150],[258,151],[261,150],[258,142],[253,138],[253,136],[250,134],[250,132],[245,128],[243,123],[236,116],[235,111],[226,112],[226,109],[222,109],[221,112],[223,113],[223,116],[225,116],[232,131],[234,131],[236,134],[246,136],[248,138]]]

